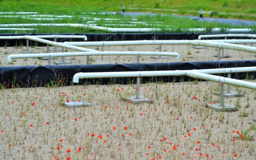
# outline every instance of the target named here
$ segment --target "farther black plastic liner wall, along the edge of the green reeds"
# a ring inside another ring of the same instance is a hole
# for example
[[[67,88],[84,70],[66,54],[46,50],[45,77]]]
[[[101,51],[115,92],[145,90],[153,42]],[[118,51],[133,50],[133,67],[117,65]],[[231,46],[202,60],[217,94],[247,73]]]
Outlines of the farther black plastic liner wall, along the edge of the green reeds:
[[[226,34],[226,33],[212,33],[212,34]],[[246,33],[229,33],[229,34],[246,34]],[[256,34],[256,33],[248,33]],[[127,40],[196,40],[199,35],[208,35],[208,33],[119,33],[119,34],[75,34],[75,33],[66,33],[66,34],[0,34],[0,36],[24,36],[24,35],[85,35],[87,36],[87,41],[127,41]],[[214,39],[214,38],[208,38]],[[227,39],[250,39],[248,37],[227,37]],[[53,39],[47,39],[52,40]],[[83,39],[57,39],[57,42],[65,41],[83,41]],[[35,41],[29,41],[29,46],[35,45]],[[0,40],[0,46],[26,46],[25,39],[13,39],[13,40]],[[38,46],[46,46],[46,44],[38,43]]]

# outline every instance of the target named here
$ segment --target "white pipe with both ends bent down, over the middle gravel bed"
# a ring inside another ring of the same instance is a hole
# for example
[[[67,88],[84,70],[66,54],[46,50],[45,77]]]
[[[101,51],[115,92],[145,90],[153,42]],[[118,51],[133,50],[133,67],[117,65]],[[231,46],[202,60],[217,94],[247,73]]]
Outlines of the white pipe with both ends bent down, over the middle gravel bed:
[[[40,58],[40,57],[73,57],[73,56],[92,56],[92,55],[151,55],[151,56],[173,56],[176,59],[180,58],[180,55],[175,52],[67,52],[67,53],[37,53],[37,54],[11,54],[7,57],[7,62],[12,62],[12,59],[16,58]]]

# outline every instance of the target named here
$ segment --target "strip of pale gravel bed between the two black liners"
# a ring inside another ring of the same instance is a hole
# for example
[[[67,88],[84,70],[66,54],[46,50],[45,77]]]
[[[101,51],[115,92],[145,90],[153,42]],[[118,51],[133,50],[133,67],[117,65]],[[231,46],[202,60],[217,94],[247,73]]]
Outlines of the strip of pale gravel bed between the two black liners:
[[[250,45],[250,44],[248,44]],[[255,44],[253,44],[255,46]],[[88,47],[91,49],[98,49],[101,51],[101,47]],[[50,47],[53,49],[53,47]],[[60,49],[60,48],[57,48]],[[14,59],[13,64],[8,64],[7,57],[10,54],[22,54],[21,51],[26,50],[26,47],[7,47],[0,48],[0,65],[1,66],[27,66],[27,65],[48,65],[47,60],[40,60],[38,58],[22,58]],[[35,47],[29,48],[30,51],[36,53],[45,53],[46,47]],[[105,46],[104,51],[159,51],[159,45],[137,45],[137,46]],[[74,50],[66,50],[66,52],[77,52]],[[180,59],[175,57],[169,57],[169,59],[152,59],[150,56],[140,57],[140,63],[161,63],[161,62],[181,62],[181,61],[216,61],[217,58],[213,55],[217,55],[218,50],[216,48],[207,48],[207,49],[194,49],[191,45],[162,45],[162,52],[177,52],[180,54]],[[189,52],[191,53],[189,55]],[[234,50],[224,50],[225,55],[230,55],[230,58],[222,58],[222,61],[231,61],[231,60],[252,60],[256,59],[253,53],[239,52]],[[222,51],[221,51],[222,54]],[[105,64],[105,63],[137,63],[137,56],[103,56],[103,62],[101,56],[91,56],[91,64]],[[71,61],[72,65],[84,65],[86,64],[86,56],[83,57],[66,57],[65,60]],[[52,60],[61,61],[61,57]]]

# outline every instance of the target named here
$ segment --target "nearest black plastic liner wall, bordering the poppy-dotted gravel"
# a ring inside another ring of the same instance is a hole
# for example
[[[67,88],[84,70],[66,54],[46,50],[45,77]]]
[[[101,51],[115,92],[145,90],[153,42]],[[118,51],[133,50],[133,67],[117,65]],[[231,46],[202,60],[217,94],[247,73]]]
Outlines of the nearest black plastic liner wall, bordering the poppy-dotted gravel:
[[[105,64],[105,65],[46,65],[46,66],[17,66],[0,67],[0,84],[9,88],[14,86],[31,87],[46,84],[70,85],[73,76],[78,72],[122,72],[122,71],[165,71],[193,70],[227,67],[252,67],[253,61],[220,61],[220,62],[172,62],[172,63],[141,63],[141,64]],[[256,72],[233,73],[231,78],[245,79],[254,77]],[[220,74],[226,76],[226,74]],[[191,81],[187,76],[142,77],[141,83]],[[128,78],[98,78],[81,79],[80,84],[130,84],[136,82],[135,77]],[[7,86],[7,87],[8,87]]]

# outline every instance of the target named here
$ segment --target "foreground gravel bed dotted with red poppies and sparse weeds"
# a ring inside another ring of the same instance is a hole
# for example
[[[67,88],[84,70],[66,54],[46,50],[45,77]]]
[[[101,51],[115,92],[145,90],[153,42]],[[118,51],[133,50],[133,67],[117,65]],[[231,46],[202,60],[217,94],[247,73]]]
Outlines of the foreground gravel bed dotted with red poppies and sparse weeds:
[[[165,83],[157,89],[155,83],[141,84],[141,95],[155,102],[139,105],[121,100],[135,94],[135,85],[2,89],[0,157],[255,159],[254,139],[239,138],[247,129],[256,134],[255,90],[239,88],[245,97],[225,98],[239,110],[217,112],[207,104],[219,101],[213,95],[218,88],[213,82]],[[69,109],[62,106],[67,99],[93,107]]]

